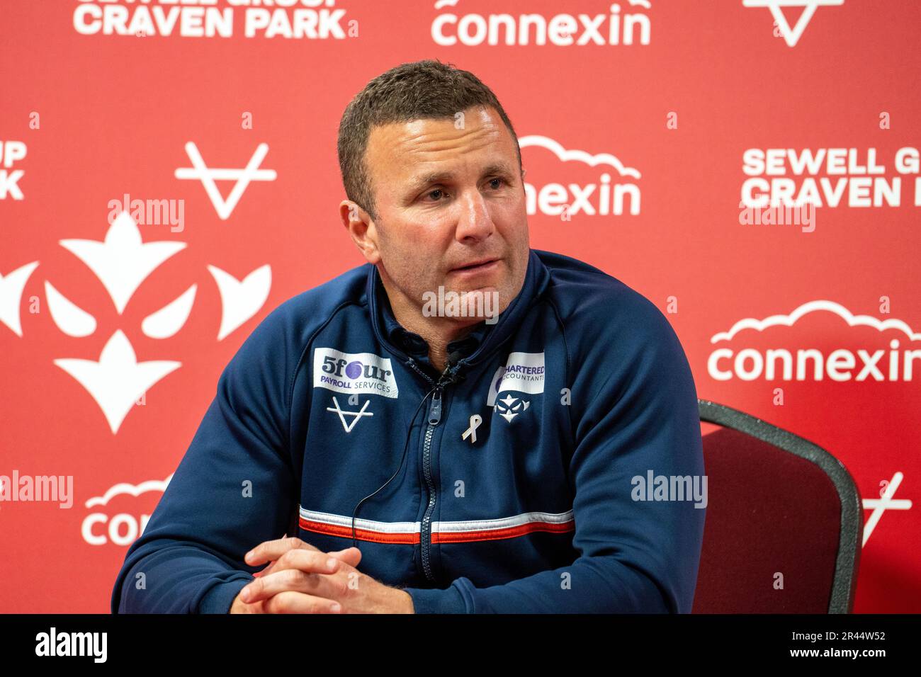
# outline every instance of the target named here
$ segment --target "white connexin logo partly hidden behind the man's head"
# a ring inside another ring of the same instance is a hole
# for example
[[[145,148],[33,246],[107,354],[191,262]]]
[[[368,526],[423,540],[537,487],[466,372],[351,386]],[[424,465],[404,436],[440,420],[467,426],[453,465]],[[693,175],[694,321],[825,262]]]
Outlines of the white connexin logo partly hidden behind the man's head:
[[[560,161],[555,172],[561,175],[572,167],[572,161],[598,169],[598,178],[584,184],[562,179],[535,186],[526,181],[524,193],[529,216],[561,216],[568,221],[581,215],[621,216],[626,210],[631,216],[639,214],[640,189],[632,180],[639,179],[640,173],[624,166],[610,153],[591,155],[584,150],[567,150],[554,139],[539,134],[520,137],[519,146],[549,150]]]

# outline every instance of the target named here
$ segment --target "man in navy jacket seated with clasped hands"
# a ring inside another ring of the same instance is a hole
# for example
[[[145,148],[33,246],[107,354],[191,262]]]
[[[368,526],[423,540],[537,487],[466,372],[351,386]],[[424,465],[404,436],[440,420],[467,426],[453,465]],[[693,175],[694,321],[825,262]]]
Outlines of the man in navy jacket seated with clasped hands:
[[[637,491],[704,471],[686,357],[646,298],[530,249],[493,92],[402,64],[339,158],[368,263],[227,365],[112,612],[690,612],[705,509]]]

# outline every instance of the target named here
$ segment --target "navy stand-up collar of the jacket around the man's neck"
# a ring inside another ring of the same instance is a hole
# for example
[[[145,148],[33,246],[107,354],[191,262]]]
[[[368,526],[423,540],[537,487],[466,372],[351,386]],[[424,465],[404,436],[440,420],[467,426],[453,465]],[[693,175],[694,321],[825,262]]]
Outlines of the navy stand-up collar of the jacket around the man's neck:
[[[409,332],[396,321],[390,299],[384,289],[377,266],[367,263],[366,294],[375,336],[391,353],[410,361],[411,356],[420,358],[428,355],[428,344],[419,334]],[[461,359],[455,371],[466,365],[475,365],[491,356],[519,327],[534,302],[540,298],[550,284],[550,272],[537,252],[529,249],[528,270],[524,284],[508,308],[499,313],[495,324],[485,321],[476,325],[472,333],[448,344],[449,354],[460,350]]]

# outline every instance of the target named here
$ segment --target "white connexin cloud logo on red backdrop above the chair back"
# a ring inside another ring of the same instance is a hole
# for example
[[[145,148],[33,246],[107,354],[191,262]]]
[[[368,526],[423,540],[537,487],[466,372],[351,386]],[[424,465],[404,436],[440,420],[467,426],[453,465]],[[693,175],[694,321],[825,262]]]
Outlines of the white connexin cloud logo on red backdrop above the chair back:
[[[921,341],[921,333],[915,333],[904,321],[878,320],[869,315],[854,315],[844,306],[834,301],[810,301],[795,309],[789,315],[772,315],[757,320],[746,318],[732,325],[729,332],[714,334],[711,344],[730,342],[743,330],[753,329],[764,332],[770,327],[792,327],[798,321],[817,312],[831,312],[845,321],[848,327],[870,327],[882,333],[896,330],[903,335],[901,341]],[[706,370],[716,380],[823,380],[834,381],[910,381],[915,377],[916,368],[921,370],[921,344],[916,349],[899,350],[902,345],[899,338],[892,338],[889,350],[879,345],[860,348],[857,351],[838,348],[822,350],[819,348],[802,348],[791,351],[787,348],[720,347],[710,353],[706,361]]]

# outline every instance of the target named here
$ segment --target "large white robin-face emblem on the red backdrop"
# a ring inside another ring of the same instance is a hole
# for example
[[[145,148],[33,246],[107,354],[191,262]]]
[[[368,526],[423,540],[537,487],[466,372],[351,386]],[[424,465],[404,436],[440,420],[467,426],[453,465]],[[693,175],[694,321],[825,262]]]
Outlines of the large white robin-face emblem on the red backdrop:
[[[104,239],[62,239],[59,244],[96,276],[119,316],[138,287],[186,247],[185,242],[174,240],[144,242],[134,218],[125,211],[112,220]],[[0,323],[20,338],[24,338],[20,315],[23,292],[39,263],[33,261],[9,273],[0,272]],[[216,340],[221,341],[262,308],[272,286],[272,271],[265,264],[239,280],[215,265],[207,269],[221,298],[221,321],[216,331]],[[197,294],[198,283],[192,283],[165,306],[151,309],[141,322],[141,332],[157,340],[179,333],[192,313]],[[29,312],[41,312],[42,306],[47,307],[54,325],[66,336],[79,339],[102,331],[96,316],[83,307],[74,292],[58,289],[47,279],[44,304],[39,297],[29,298]],[[134,404],[146,404],[146,392],[182,363],[173,359],[138,360],[122,328],[105,331],[111,333],[99,356],[61,356],[53,362],[76,379],[99,405],[114,435]],[[75,352],[77,345],[74,342]]]

